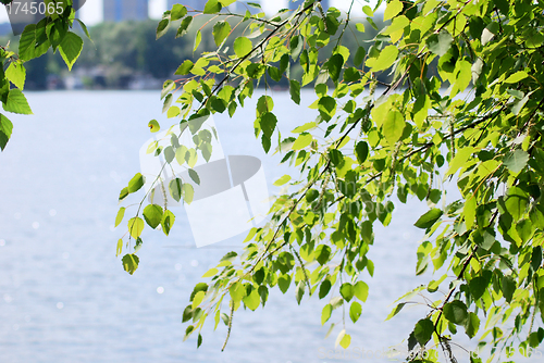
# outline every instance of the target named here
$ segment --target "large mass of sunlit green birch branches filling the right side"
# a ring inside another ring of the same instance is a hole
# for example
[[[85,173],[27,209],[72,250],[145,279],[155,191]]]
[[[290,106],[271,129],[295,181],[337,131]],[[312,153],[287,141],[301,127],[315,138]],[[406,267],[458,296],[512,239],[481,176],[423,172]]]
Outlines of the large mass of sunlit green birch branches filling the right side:
[[[215,327],[223,318],[230,331],[240,306],[264,306],[275,287],[290,289],[298,303],[317,295],[322,324],[336,313],[357,322],[369,293],[363,273],[372,276],[374,270],[368,258],[373,228],[391,223],[393,198],[403,203],[418,198],[430,209],[416,222],[425,231],[415,251],[416,274],[432,271],[438,277],[401,297],[390,315],[416,293],[428,295],[426,314],[407,331],[409,348],[441,349],[453,361],[448,341],[456,334],[478,339],[492,353],[539,347],[544,338],[537,327],[544,320],[543,4],[392,0],[383,14],[390,25],[370,47],[350,49],[345,38],[366,32],[351,22],[355,1],[342,13],[307,0],[272,17],[231,14],[224,9],[232,2],[207,2],[203,13],[214,16],[206,26],[217,49],[196,62],[182,60],[176,75],[184,78],[164,84],[163,110],[180,121],[171,129],[175,155],[183,150],[206,159],[209,142],[201,139],[188,150],[177,143],[181,133],[198,135],[197,117],[234,115],[259,84],[288,79],[296,104],[300,89],[312,87],[317,117],[282,135],[273,98],[258,99],[254,127],[263,149],[281,152],[304,177],[279,182],[295,191],[276,196],[269,223],[250,230],[245,252],[227,253],[205,275],[208,281],[195,287],[183,316],[189,322],[186,335],[198,333],[208,317]],[[363,7],[369,24],[379,5]],[[158,37],[172,25],[184,36],[197,15],[174,5]],[[234,28],[244,33],[231,39]],[[201,29],[195,50],[200,41]],[[436,75],[429,71],[433,62]],[[290,72],[295,64],[304,71],[299,76]],[[378,80],[390,72],[390,84]],[[151,146],[156,154],[166,149]],[[140,177],[120,200],[141,187]],[[455,182],[461,195],[449,204],[444,179]],[[170,190],[185,185],[175,179]],[[190,202],[187,193],[177,196]],[[141,214],[149,226],[159,226],[159,209],[141,213],[143,203],[128,222],[134,239],[144,228]],[[170,210],[161,212],[160,223],[166,215],[173,222]],[[129,261],[125,268],[133,273],[138,260]],[[348,327],[336,341],[349,346]]]

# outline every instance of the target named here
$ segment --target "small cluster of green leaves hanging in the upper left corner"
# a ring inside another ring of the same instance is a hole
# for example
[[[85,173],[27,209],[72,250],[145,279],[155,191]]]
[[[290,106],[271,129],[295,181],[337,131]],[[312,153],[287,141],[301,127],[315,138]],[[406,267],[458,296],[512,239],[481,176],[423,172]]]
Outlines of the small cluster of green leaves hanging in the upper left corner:
[[[11,1],[3,1],[4,4]],[[50,2],[50,1],[46,1]],[[64,9],[61,13],[60,8]],[[59,2],[59,8],[46,8],[49,13],[37,24],[29,24],[25,27],[18,39],[17,52],[5,47],[0,47],[0,58],[2,60],[2,70],[0,72],[0,100],[5,112],[18,114],[32,114],[32,109],[23,95],[26,83],[25,63],[40,58],[49,49],[53,52],[59,51],[66,63],[69,70],[72,70],[75,61],[83,49],[83,40],[70,29],[74,22],[79,23],[85,33],[87,28],[79,20],[76,20],[75,11],[72,9],[72,0]],[[88,33],[87,33],[88,36]],[[13,124],[4,115],[0,114],[0,149],[7,147],[13,132]]]

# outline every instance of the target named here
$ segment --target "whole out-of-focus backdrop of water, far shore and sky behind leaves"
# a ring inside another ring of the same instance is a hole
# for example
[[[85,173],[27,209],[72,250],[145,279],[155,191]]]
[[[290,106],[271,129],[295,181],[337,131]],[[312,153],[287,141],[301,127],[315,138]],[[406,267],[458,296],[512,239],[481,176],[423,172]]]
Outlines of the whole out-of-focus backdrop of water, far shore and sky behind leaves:
[[[157,118],[163,128],[174,123],[161,114],[158,89],[185,59],[212,49],[210,26],[195,53],[194,33],[175,39],[171,29],[156,40],[157,20],[174,2],[87,0],[78,15],[90,26],[94,41],[85,39],[73,72],[52,52],[27,64],[25,95],[34,115],[10,115],[13,136],[0,153],[0,362],[404,361],[405,355],[395,351],[406,351],[406,338],[428,308],[407,306],[384,321],[395,299],[431,279],[415,277],[416,249],[423,234],[413,223],[428,209],[417,199],[407,205],[394,201],[392,224],[375,227],[369,252],[375,270],[372,278],[362,276],[370,287],[362,315],[353,324],[342,309],[336,310],[331,318],[336,325],[326,339],[330,325],[320,323],[326,301],[305,297],[298,306],[292,287],[285,296],[271,291],[265,309],[238,310],[225,352],[223,323],[217,331],[212,322],[207,323],[200,349],[196,335],[183,342],[187,324],[182,324],[182,315],[193,287],[225,253],[240,253],[245,237],[197,249],[183,208],[175,210],[169,237],[144,231],[138,270],[133,276],[123,271],[115,246],[126,221],[113,226],[119,192],[139,171],[138,151],[150,137],[149,120]],[[202,1],[184,3],[203,8]],[[261,2],[269,14],[299,3]],[[323,4],[347,10],[346,1]],[[354,14],[360,16],[367,3],[357,4]],[[236,7],[233,11],[260,11],[239,2]],[[3,7],[0,14],[0,43],[11,41],[16,50]],[[203,24],[206,18],[199,21]],[[378,32],[368,23],[366,29],[347,37],[345,45],[356,47]],[[296,72],[294,67],[292,75]],[[276,104],[279,128],[288,133],[314,120],[314,110],[307,107],[316,96],[312,89],[302,90],[297,107],[284,89],[276,83],[269,95]],[[262,92],[257,90],[254,100]],[[281,155],[264,154],[256,140],[255,101],[246,101],[233,118],[214,118],[224,152],[259,158],[269,190],[279,192],[272,183],[293,171],[279,165]],[[448,202],[454,196],[448,195]],[[134,206],[126,213],[134,213]],[[445,291],[432,298],[441,292]],[[334,341],[344,323],[351,335],[348,350],[336,349]],[[460,362],[467,361],[463,349],[471,349],[471,343],[456,342],[454,352]]]

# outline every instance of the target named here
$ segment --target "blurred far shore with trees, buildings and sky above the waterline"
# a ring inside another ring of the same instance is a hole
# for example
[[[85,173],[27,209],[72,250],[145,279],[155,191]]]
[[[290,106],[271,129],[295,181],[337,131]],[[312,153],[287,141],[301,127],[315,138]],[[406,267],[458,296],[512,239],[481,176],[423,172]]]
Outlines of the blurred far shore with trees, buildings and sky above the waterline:
[[[160,89],[166,79],[171,79],[175,70],[184,60],[196,60],[202,51],[211,51],[215,46],[211,35],[211,26],[202,29],[202,41],[194,52],[194,39],[197,29],[203,25],[209,16],[197,16],[189,27],[189,33],[181,38],[175,38],[176,27],[162,38],[156,40],[158,20],[166,9],[172,9],[174,3],[182,2],[187,9],[202,10],[203,0],[86,0],[76,16],[89,27],[92,42],[89,41],[81,29],[74,25],[75,30],[84,38],[85,46],[82,55],[72,72],[66,66],[60,54],[51,50],[38,59],[25,64],[27,68],[26,89],[54,90],[54,89]],[[273,15],[281,9],[297,9],[302,0],[288,2],[287,0],[256,0],[262,9],[248,5],[247,2],[237,1],[230,7],[233,12],[259,13],[264,11]],[[349,2],[344,0],[324,0],[323,8],[337,5],[347,11]],[[353,9],[355,22],[364,22],[362,5],[358,3]],[[375,16],[378,28],[383,27],[382,16]],[[10,48],[18,47],[17,37],[13,36],[5,8],[0,7],[0,43],[10,41]],[[174,23],[180,23],[174,22]],[[240,29],[236,29],[240,33]],[[345,37],[345,46],[357,49],[361,41],[370,40],[378,30],[366,23],[364,34],[355,37]],[[366,47],[370,43],[366,43]],[[294,72],[294,73],[293,73]],[[297,76],[301,70],[294,67],[292,73]],[[387,75],[382,76],[387,80]],[[275,84],[271,82],[271,84]],[[275,87],[288,87],[287,79],[275,84]]]

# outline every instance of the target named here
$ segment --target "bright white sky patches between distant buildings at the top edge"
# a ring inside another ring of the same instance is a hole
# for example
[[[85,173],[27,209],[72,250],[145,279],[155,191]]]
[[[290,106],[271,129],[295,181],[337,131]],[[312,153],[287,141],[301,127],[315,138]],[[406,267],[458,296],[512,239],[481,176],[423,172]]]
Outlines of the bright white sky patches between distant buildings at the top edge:
[[[81,10],[79,17],[87,25],[94,25],[102,21],[102,1],[112,0],[87,0],[85,5]],[[263,10],[272,14],[275,11],[286,8],[288,0],[262,0]],[[180,0],[183,3],[183,0]],[[359,5],[356,7],[356,13],[362,13],[361,9],[366,1],[359,0]],[[371,1],[374,2],[374,1]],[[336,7],[341,10],[347,10],[349,5],[349,0],[331,0],[331,5]],[[162,13],[166,10],[166,0],[149,0],[149,17],[160,18]],[[0,23],[9,22],[8,13],[4,7],[0,7]]]

